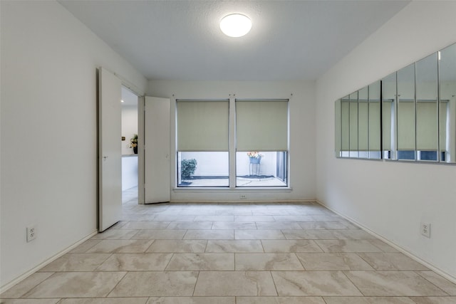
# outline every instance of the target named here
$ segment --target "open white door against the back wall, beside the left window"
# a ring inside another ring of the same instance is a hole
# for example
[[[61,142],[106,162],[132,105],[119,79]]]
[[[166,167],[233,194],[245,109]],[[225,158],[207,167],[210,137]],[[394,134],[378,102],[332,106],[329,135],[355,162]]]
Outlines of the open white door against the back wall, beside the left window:
[[[144,104],[144,201],[171,199],[170,99],[145,96]]]

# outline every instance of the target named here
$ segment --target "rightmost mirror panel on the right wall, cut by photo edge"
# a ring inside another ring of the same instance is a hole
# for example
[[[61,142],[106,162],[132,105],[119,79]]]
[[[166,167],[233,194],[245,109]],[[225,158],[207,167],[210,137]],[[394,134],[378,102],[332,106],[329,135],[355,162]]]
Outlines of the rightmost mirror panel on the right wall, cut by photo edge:
[[[456,162],[456,43],[438,52],[440,162]]]

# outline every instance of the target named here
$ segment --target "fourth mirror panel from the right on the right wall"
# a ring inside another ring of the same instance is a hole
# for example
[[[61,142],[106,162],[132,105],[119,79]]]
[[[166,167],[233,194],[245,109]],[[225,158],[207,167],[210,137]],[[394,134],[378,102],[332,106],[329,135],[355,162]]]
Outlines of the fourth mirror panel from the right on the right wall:
[[[382,79],[382,142],[383,158],[396,158],[396,73]]]

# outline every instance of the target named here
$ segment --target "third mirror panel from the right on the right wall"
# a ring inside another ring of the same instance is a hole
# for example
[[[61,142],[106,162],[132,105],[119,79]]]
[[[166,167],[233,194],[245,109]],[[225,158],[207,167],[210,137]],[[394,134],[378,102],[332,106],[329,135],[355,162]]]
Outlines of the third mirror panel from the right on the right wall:
[[[415,63],[398,70],[398,159],[415,160]]]

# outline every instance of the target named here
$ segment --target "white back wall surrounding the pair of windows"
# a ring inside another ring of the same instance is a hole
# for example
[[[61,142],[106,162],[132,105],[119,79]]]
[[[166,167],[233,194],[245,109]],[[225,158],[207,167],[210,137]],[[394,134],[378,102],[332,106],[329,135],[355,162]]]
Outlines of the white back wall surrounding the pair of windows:
[[[171,81],[152,80],[147,94],[175,99],[227,99],[235,98],[290,98],[290,168],[289,182],[292,191],[285,189],[248,190],[248,200],[295,200],[315,199],[315,103],[313,81]],[[291,96],[293,94],[293,96]],[[175,104],[172,103],[172,112]],[[174,113],[174,112],[173,112]],[[171,122],[172,136],[175,134],[175,115]],[[172,140],[172,180],[175,180],[175,140]],[[175,185],[172,185],[174,187]],[[245,189],[173,189],[174,201],[192,200],[237,200],[239,191]]]

